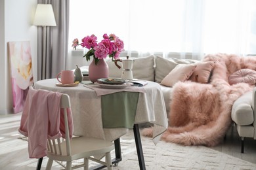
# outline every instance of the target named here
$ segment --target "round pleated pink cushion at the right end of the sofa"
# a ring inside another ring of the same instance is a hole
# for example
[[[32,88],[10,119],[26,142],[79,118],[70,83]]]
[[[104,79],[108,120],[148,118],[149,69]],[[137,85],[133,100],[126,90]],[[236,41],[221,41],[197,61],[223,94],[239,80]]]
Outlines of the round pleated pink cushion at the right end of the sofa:
[[[256,84],[256,71],[252,69],[240,69],[228,77],[229,84],[245,82],[247,84]]]

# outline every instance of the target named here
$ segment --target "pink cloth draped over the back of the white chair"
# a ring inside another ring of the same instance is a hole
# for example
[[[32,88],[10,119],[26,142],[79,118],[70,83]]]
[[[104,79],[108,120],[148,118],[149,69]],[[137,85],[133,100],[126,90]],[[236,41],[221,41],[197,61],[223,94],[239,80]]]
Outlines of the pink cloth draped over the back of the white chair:
[[[20,133],[28,137],[30,158],[47,155],[47,138],[57,139],[65,135],[63,109],[60,109],[62,93],[30,88],[20,121]],[[61,113],[62,112],[62,113]],[[71,110],[68,109],[70,137],[73,134]]]

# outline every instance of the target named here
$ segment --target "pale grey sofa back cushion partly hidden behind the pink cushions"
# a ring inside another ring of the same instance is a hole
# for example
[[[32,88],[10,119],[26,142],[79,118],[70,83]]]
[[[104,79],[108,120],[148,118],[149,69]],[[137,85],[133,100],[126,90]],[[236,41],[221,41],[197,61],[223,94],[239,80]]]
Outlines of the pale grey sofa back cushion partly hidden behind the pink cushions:
[[[160,56],[156,56],[155,81],[161,82],[161,80],[163,80],[163,78],[165,78],[165,76],[168,75],[178,64],[198,62],[200,61],[194,59],[162,58]]]

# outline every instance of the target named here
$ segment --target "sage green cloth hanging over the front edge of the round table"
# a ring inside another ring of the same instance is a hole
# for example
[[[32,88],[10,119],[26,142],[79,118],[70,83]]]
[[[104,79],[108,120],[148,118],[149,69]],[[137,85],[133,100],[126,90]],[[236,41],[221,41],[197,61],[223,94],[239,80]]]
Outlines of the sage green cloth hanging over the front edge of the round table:
[[[117,92],[101,96],[103,128],[133,128],[138,92]]]

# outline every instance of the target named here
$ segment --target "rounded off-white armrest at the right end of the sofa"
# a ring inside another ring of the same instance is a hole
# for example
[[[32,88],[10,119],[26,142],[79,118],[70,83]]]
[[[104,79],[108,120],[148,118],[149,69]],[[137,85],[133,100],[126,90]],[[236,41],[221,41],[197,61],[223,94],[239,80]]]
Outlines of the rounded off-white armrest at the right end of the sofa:
[[[232,106],[231,118],[241,126],[250,125],[253,123],[253,109],[251,107],[253,92],[244,93],[240,96]]]

